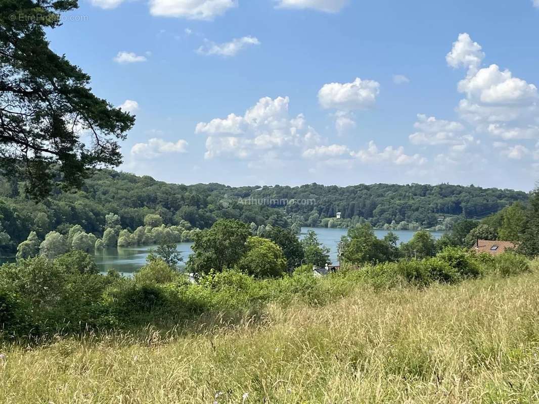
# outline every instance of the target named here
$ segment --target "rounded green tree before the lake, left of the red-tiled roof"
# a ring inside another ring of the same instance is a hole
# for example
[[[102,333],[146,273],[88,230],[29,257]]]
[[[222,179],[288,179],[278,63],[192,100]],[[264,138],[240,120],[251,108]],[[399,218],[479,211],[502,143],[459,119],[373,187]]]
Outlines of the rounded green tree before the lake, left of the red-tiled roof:
[[[368,223],[349,229],[344,237],[343,259],[353,264],[378,263],[395,259],[396,241],[394,236],[380,240]]]

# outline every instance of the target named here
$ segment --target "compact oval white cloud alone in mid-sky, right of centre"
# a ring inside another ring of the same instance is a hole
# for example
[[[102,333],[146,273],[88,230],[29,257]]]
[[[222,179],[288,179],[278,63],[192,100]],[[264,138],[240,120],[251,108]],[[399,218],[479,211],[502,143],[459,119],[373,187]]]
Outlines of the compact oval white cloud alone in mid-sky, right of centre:
[[[380,93],[380,83],[356,78],[351,83],[329,83],[318,92],[322,108],[350,111],[371,108]]]

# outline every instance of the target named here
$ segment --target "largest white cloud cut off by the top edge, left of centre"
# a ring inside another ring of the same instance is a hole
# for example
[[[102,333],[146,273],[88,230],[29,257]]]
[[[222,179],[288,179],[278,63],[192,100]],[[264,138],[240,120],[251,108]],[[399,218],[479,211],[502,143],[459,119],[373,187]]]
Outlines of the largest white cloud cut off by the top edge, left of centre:
[[[150,0],[150,13],[160,17],[213,20],[237,5],[237,0]]]

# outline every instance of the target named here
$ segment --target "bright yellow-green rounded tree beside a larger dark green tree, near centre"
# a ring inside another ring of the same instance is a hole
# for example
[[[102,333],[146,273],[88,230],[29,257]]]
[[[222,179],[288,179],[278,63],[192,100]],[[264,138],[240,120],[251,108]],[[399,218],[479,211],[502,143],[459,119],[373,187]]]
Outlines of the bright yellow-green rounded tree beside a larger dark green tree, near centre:
[[[258,277],[277,277],[286,271],[286,259],[281,247],[273,241],[252,236],[247,240],[247,252],[238,262],[246,274]]]

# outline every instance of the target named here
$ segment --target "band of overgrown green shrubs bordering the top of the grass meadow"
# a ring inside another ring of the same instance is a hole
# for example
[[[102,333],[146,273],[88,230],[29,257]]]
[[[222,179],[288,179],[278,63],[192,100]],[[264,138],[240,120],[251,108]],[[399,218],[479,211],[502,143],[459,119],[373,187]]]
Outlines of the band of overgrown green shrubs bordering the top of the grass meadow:
[[[227,264],[199,272],[198,283],[190,283],[156,255],[134,278],[114,272],[101,275],[91,256],[80,251],[54,260],[40,256],[5,264],[0,267],[2,336],[35,338],[148,324],[171,328],[216,312],[231,318],[257,314],[271,303],[326,304],[358,285],[424,288],[530,269],[529,261],[515,253],[492,257],[448,247],[423,260],[348,265],[319,280],[308,266],[286,274],[281,248],[253,236],[243,255]]]

